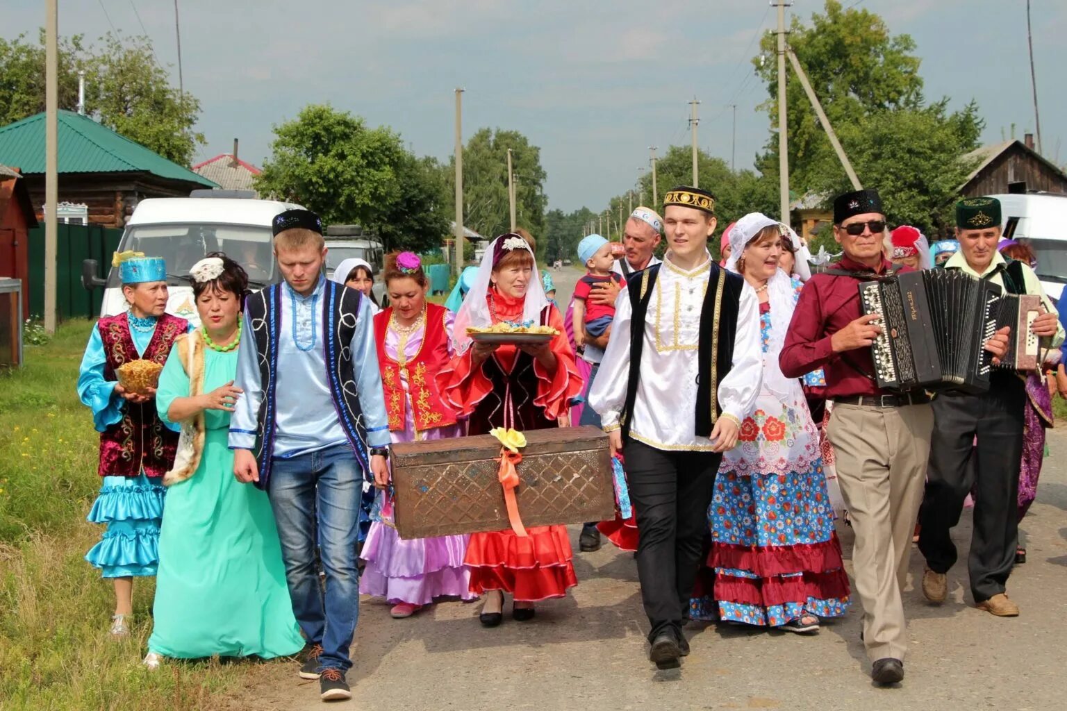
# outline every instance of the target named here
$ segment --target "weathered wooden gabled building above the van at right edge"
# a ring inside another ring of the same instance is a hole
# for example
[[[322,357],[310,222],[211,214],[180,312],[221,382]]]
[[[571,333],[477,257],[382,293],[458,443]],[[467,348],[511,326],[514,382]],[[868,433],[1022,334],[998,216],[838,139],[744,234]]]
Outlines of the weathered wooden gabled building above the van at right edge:
[[[1067,174],[1034,150],[1034,136],[983,146],[964,156],[977,160],[975,168],[959,187],[961,197],[1003,193],[1067,194]]]

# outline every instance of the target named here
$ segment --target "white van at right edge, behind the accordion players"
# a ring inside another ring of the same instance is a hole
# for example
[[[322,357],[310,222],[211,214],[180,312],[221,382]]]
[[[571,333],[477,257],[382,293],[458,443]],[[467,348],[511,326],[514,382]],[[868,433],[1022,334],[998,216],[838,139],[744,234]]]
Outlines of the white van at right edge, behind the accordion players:
[[[1004,237],[1030,245],[1045,293],[1060,300],[1067,285],[1067,195],[990,195],[1001,201]]]

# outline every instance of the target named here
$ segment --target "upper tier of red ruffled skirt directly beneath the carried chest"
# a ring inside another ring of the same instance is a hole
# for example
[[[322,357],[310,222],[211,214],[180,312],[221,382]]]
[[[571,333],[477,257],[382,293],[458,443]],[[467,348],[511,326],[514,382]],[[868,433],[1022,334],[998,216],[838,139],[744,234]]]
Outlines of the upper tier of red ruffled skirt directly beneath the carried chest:
[[[471,567],[512,570],[571,565],[574,552],[564,527],[535,527],[526,532],[529,535],[517,536],[511,530],[473,533],[463,562]]]

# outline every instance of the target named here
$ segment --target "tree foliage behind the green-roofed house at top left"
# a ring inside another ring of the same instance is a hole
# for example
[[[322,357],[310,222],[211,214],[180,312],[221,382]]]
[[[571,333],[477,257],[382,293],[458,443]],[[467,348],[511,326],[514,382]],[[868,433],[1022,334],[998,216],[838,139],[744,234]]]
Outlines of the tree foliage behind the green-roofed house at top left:
[[[147,37],[107,34],[102,47],[82,35],[61,38],[59,108],[78,106],[78,71],[85,71],[85,112],[100,124],[176,163],[189,165],[204,135],[193,130],[200,101],[180,96]],[[44,31],[37,45],[26,35],[0,39],[0,125],[45,110]]]

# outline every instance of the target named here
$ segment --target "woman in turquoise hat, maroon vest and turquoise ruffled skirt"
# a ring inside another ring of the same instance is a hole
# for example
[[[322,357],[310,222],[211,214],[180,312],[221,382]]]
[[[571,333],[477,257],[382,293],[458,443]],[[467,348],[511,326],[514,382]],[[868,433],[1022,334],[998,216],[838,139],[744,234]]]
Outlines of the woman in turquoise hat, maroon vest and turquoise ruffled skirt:
[[[93,410],[100,433],[100,495],[89,520],[106,523],[103,538],[85,560],[111,578],[115,613],[111,634],[129,634],[133,613],[133,578],[156,575],[159,521],[163,515],[160,480],[174,464],[178,441],[156,415],[155,388],[142,393],[118,384],[116,371],[132,360],[159,366],[174,339],[189,327],[166,308],[166,264],[141,253],[116,254],[123,295],[129,310],[100,319],[89,337],[78,375],[78,397]]]

